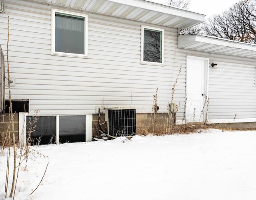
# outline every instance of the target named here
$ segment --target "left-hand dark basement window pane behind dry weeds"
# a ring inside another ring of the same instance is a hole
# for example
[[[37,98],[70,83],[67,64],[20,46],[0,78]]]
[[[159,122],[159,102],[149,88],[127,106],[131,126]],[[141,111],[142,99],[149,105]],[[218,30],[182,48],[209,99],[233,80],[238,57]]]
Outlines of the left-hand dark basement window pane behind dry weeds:
[[[26,118],[27,138],[30,145],[48,145],[56,143],[56,117],[55,116],[28,116]]]

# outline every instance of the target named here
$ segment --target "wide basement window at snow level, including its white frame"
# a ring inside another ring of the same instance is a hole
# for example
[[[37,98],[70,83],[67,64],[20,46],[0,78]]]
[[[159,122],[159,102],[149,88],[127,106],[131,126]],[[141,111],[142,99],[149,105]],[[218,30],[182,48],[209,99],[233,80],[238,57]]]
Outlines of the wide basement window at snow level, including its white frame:
[[[19,113],[19,122],[22,144],[48,145],[92,140],[92,114],[35,116]]]

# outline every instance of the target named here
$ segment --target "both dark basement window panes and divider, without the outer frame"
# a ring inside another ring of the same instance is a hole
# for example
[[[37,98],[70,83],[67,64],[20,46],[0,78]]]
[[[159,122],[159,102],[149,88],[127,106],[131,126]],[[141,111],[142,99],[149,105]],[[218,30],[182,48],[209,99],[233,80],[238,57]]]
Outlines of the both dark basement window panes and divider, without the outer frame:
[[[27,143],[48,145],[86,141],[86,115],[27,116]]]

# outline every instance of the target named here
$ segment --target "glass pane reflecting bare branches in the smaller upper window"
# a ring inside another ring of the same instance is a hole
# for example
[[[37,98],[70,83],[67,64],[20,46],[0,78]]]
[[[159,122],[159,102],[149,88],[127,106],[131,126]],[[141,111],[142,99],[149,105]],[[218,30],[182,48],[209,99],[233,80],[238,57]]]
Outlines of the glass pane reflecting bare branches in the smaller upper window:
[[[144,61],[162,62],[162,31],[144,29]]]

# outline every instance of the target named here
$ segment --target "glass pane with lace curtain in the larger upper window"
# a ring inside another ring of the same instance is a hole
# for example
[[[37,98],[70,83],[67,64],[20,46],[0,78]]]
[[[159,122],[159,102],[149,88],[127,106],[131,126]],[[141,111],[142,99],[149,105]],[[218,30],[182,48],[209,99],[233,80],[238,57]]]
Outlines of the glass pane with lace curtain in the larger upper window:
[[[55,51],[85,54],[85,18],[55,13]]]

